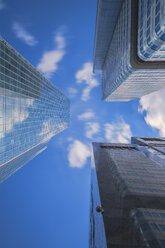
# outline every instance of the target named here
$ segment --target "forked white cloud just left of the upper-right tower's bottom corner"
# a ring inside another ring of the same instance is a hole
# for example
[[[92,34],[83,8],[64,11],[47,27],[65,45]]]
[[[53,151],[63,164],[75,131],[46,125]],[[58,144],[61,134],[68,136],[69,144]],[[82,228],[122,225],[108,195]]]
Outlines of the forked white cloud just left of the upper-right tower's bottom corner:
[[[97,79],[94,77],[93,74],[92,63],[87,62],[83,64],[82,69],[76,73],[75,77],[77,83],[84,82],[87,85],[82,92],[81,100],[89,100],[91,90],[99,85]]]

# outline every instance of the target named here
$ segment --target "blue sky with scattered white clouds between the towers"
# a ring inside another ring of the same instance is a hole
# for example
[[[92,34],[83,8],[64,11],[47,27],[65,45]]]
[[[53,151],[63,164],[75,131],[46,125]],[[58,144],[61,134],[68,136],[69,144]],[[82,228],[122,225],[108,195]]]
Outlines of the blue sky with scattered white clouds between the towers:
[[[92,141],[165,136],[165,91],[101,101],[96,0],[0,0],[0,34],[71,101],[70,128],[0,185],[0,246],[86,248]]]

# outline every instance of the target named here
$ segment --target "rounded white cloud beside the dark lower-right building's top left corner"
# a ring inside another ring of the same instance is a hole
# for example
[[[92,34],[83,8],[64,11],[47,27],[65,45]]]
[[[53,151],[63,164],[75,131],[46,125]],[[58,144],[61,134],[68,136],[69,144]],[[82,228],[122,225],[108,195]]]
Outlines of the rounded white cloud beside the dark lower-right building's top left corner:
[[[82,168],[90,157],[90,148],[79,140],[69,145],[68,160],[70,167]]]

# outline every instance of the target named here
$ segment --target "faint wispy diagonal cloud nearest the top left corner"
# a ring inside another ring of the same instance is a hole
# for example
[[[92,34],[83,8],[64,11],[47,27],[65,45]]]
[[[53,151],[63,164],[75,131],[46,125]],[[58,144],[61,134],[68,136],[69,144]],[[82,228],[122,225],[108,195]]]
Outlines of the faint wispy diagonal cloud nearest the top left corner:
[[[24,41],[27,45],[34,46],[37,44],[37,40],[34,38],[34,36],[29,34],[20,23],[14,22],[13,30],[16,36],[22,41]]]

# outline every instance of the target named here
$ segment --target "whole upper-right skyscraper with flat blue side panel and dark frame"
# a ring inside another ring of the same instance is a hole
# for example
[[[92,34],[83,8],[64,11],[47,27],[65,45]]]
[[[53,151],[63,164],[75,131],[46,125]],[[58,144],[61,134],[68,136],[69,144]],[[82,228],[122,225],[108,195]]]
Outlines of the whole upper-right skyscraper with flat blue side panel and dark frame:
[[[128,101],[165,87],[165,1],[99,0],[94,72],[102,99]]]

